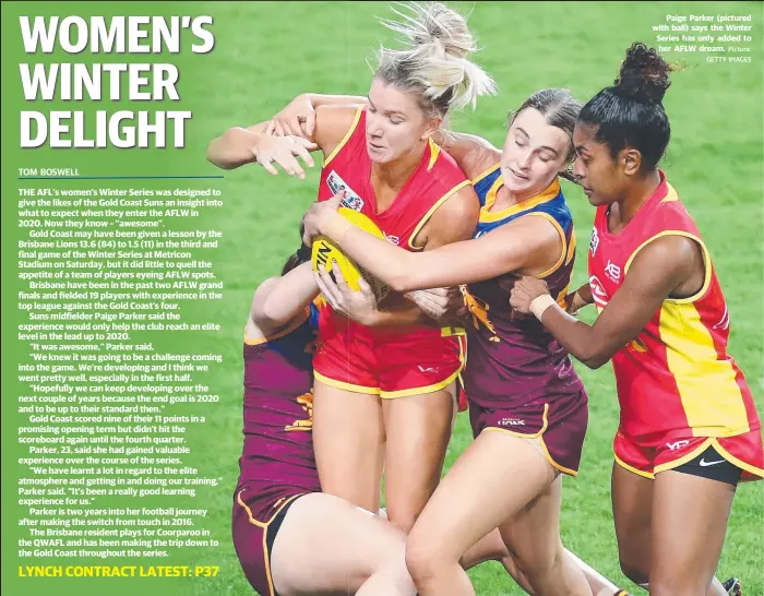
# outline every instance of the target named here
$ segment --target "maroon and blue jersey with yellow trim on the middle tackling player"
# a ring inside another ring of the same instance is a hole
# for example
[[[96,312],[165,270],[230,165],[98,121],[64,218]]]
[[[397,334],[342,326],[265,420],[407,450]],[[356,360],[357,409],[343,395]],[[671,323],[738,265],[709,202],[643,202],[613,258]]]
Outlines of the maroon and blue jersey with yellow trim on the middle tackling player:
[[[475,238],[521,217],[549,220],[560,233],[563,247],[554,266],[538,277],[564,305],[575,260],[575,236],[559,181],[537,196],[490,212],[502,184],[500,164],[474,181],[481,203]],[[469,353],[464,379],[467,396],[481,407],[512,408],[534,401],[549,402],[583,389],[562,345],[535,317],[513,311],[510,291],[516,279],[516,275],[504,274],[469,284],[465,293],[473,324],[467,330]]]

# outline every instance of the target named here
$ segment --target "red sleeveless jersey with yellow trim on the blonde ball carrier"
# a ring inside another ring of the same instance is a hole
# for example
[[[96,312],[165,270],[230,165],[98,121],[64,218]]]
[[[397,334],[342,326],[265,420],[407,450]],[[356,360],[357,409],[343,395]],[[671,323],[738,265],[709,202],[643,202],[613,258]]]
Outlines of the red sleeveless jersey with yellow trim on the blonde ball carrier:
[[[379,213],[371,184],[371,165],[366,144],[366,108],[359,107],[345,138],[324,160],[319,201],[344,190],[346,207],[369,217],[389,241],[407,250],[421,250],[416,243],[417,234],[439,206],[470,183],[454,158],[430,141],[393,203]]]

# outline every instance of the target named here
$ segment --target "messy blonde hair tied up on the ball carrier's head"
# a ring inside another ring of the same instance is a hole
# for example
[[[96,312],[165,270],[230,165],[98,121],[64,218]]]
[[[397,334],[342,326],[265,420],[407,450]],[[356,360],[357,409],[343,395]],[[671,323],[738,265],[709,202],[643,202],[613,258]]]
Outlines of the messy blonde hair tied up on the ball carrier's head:
[[[382,24],[404,36],[404,49],[379,50],[374,73],[387,84],[421,95],[426,112],[445,117],[451,108],[475,108],[480,95],[496,94],[493,80],[468,57],[477,50],[467,22],[440,3],[398,3],[401,20]],[[410,13],[410,14],[408,14]]]

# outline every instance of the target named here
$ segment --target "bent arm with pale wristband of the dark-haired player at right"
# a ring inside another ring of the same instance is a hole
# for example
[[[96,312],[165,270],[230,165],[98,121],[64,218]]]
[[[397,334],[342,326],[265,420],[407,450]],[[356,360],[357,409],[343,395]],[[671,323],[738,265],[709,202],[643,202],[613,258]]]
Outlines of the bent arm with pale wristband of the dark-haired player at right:
[[[702,266],[703,257],[694,245],[680,236],[647,245],[593,325],[550,302],[551,297],[545,297],[546,284],[539,279],[524,277],[515,283],[511,303],[521,312],[534,312],[565,349],[596,369],[638,335],[666,298],[685,286],[693,274],[697,277],[699,259]]]

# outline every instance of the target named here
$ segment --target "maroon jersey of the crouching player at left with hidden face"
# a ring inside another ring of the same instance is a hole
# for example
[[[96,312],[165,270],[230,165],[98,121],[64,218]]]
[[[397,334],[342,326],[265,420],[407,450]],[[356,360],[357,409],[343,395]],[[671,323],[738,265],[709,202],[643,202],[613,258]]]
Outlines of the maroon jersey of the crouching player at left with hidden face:
[[[295,327],[260,342],[244,339],[244,444],[239,482],[271,480],[320,491],[313,458],[313,367],[318,309]],[[237,489],[238,490],[238,489]]]

